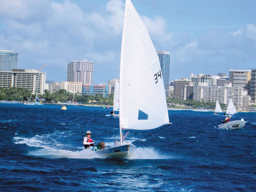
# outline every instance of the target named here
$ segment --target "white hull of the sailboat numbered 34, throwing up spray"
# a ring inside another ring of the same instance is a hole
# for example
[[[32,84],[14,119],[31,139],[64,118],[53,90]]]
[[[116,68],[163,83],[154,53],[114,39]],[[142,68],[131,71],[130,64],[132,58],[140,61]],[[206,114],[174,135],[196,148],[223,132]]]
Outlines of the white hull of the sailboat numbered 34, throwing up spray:
[[[133,144],[124,144],[115,147],[101,149],[95,151],[95,153],[101,154],[104,157],[120,158],[132,155],[135,148],[136,147]]]

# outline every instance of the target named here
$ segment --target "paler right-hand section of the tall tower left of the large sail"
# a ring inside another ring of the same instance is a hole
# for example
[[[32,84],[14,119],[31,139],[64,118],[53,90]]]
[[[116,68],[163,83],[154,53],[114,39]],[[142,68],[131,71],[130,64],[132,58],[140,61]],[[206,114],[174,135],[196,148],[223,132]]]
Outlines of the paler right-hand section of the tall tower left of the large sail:
[[[74,61],[74,81],[92,85],[94,62],[87,60]]]

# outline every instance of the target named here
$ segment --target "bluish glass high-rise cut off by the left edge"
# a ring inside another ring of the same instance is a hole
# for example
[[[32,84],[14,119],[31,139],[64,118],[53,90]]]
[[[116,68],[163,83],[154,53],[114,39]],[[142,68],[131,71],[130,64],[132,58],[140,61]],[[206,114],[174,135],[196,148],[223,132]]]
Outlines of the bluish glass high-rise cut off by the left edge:
[[[18,69],[19,54],[14,51],[0,50],[0,71]]]

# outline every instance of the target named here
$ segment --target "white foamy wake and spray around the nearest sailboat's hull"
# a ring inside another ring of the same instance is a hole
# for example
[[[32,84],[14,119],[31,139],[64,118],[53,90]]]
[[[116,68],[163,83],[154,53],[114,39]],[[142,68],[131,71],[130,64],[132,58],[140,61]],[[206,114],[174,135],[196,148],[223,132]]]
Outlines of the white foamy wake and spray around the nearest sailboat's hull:
[[[38,156],[44,158],[70,158],[70,159],[92,159],[105,158],[91,150],[84,149],[84,147],[71,146],[62,144],[55,140],[55,135],[61,135],[63,132],[55,132],[54,134],[35,135],[31,138],[19,137],[17,133],[13,137],[15,144],[26,144],[29,147],[28,155]],[[143,141],[143,140],[142,140]],[[129,141],[126,141],[129,142]],[[106,146],[112,147],[114,143],[106,143]],[[172,156],[162,154],[152,147],[138,147],[135,148],[131,156],[127,159],[169,159]]]

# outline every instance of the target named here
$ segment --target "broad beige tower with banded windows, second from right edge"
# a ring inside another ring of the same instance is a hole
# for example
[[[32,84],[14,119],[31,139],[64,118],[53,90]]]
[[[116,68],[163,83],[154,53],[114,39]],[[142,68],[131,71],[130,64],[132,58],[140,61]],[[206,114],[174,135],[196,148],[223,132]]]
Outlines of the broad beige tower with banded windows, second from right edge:
[[[251,70],[229,70],[229,81],[232,82],[232,87],[243,87],[250,91],[251,77]]]

